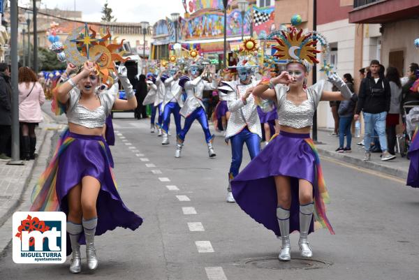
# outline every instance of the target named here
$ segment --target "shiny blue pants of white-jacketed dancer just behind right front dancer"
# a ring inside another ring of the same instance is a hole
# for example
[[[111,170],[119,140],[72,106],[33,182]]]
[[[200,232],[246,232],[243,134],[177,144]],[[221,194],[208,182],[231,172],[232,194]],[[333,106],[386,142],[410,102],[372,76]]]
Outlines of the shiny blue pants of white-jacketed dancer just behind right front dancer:
[[[231,142],[231,165],[230,177],[236,177],[239,174],[240,165],[243,159],[243,145],[246,142],[247,149],[249,150],[250,159],[256,157],[260,152],[260,137],[255,133],[251,133],[245,127],[240,133],[230,138]]]

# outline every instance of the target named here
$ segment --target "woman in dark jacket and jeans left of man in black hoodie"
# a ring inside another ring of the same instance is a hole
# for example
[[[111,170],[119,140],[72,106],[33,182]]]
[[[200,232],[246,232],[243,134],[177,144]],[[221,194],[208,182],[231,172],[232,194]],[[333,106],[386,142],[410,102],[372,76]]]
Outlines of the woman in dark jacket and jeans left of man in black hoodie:
[[[348,100],[341,101],[339,105],[339,147],[336,149],[336,152],[352,152],[351,141],[352,141],[352,119],[353,112],[355,111],[356,102],[358,101],[358,96],[353,93],[353,78],[352,75],[346,73],[344,75],[344,82],[348,86],[349,90],[352,92],[352,96]],[[344,147],[346,135],[346,147]]]

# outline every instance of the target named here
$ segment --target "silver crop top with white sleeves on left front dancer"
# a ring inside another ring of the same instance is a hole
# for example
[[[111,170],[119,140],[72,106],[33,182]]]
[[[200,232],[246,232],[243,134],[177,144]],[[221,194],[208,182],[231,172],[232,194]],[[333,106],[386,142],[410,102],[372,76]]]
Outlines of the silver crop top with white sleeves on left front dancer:
[[[95,110],[89,110],[79,103],[80,90],[72,89],[68,99],[68,110],[66,112],[68,122],[78,124],[87,128],[98,128],[105,126],[106,117],[112,110],[115,96],[108,91],[98,94],[101,105]]]

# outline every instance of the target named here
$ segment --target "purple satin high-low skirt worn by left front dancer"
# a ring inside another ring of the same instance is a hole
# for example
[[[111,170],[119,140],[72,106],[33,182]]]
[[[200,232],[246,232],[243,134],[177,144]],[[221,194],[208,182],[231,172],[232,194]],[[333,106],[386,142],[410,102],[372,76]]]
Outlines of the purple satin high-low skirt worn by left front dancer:
[[[101,136],[71,132],[64,137],[74,140],[59,156],[56,192],[61,211],[68,214],[69,191],[80,184],[84,176],[91,176],[101,183],[96,202],[98,213],[96,235],[102,235],[107,230],[114,230],[118,226],[131,228],[131,230],[137,229],[142,219],[129,210],[119,196],[110,168],[110,152],[105,139]],[[69,244],[70,242],[67,246],[68,254],[71,253],[71,244]],[[84,235],[80,237],[80,244],[85,244]]]

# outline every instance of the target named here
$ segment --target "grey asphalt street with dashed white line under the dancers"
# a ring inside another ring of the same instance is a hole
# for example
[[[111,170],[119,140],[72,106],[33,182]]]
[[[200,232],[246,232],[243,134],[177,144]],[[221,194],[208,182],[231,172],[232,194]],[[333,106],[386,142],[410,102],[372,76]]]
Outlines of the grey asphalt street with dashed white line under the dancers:
[[[274,234],[225,202],[230,147],[221,135],[214,141],[217,156],[209,159],[194,125],[182,158],[175,159],[174,125],[170,145],[162,146],[149,133],[149,119],[117,118],[114,124],[119,193],[142,216],[142,226],[98,237],[94,274],[85,265],[81,275],[70,274],[69,258],[63,265],[17,265],[9,247],[0,256],[0,279],[419,278],[419,190],[403,179],[322,158],[336,235],[320,230],[309,236],[318,262],[279,263]],[[293,258],[299,257],[297,237],[291,235]]]

